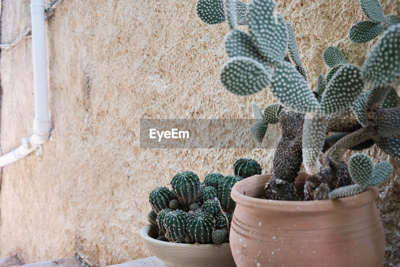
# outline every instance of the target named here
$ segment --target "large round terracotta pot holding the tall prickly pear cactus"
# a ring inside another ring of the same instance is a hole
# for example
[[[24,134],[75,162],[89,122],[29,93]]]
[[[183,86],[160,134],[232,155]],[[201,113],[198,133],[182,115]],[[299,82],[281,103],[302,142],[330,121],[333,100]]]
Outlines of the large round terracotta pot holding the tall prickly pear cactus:
[[[238,267],[382,266],[385,235],[377,187],[335,200],[258,198],[265,196],[271,176],[255,175],[232,188],[236,208],[229,238]]]

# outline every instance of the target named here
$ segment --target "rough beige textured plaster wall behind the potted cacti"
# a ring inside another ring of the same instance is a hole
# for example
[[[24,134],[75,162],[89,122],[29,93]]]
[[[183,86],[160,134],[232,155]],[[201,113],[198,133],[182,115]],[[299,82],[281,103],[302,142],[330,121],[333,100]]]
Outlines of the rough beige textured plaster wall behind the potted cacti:
[[[30,23],[29,0],[1,1],[1,42]],[[310,83],[327,69],[322,52],[340,47],[361,65],[371,44],[352,44],[348,29],[364,20],[358,0],[278,0],[292,22]],[[385,13],[400,14],[397,0],[382,0]],[[395,7],[397,2],[397,7]],[[250,118],[250,103],[272,103],[266,90],[230,95],[218,82],[226,61],[225,25],[206,26],[195,1],[64,0],[47,22],[50,140],[34,154],[2,170],[0,256],[26,263],[79,255],[94,266],[150,256],[139,231],[150,210],[148,193],[167,186],[176,172],[230,174],[234,160],[259,160],[272,168],[272,149],[141,150],[140,118]],[[32,43],[2,53],[0,148],[3,154],[32,132]],[[268,128],[263,146],[278,140]],[[226,136],[226,140],[230,136]],[[386,266],[400,264],[399,161],[376,148],[376,161],[396,171],[378,200],[386,228]],[[347,155],[348,156],[348,155]]]

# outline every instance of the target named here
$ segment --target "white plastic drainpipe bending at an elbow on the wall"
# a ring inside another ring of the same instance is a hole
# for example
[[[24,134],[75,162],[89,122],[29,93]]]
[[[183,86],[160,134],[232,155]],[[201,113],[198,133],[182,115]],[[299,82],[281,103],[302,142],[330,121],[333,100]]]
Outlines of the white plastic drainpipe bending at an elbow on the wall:
[[[0,167],[28,156],[49,138],[50,119],[47,93],[46,25],[44,0],[31,0],[33,47],[33,81],[35,97],[35,118],[33,134],[22,138],[22,145],[0,157]]]

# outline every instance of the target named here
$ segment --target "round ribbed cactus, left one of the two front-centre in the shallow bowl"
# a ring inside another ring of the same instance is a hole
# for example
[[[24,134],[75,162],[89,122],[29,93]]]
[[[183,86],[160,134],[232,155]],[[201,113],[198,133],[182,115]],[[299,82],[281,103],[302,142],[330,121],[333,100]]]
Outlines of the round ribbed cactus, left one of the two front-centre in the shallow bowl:
[[[187,231],[188,214],[182,210],[168,212],[164,218],[166,237],[172,242],[184,240]]]

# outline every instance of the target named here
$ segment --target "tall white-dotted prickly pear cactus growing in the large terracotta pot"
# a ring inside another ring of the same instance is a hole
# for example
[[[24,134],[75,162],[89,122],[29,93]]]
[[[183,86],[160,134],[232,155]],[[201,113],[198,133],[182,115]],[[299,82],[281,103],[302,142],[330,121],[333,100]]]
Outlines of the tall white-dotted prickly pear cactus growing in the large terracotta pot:
[[[264,112],[252,104],[256,124],[250,132],[257,142],[269,123],[279,122],[282,130],[274,175],[266,186],[270,199],[303,198],[294,186],[302,163],[304,199],[318,200],[357,194],[391,176],[388,162],[372,166],[364,154],[353,156],[348,166],[342,157],[349,149],[376,145],[400,158],[400,99],[395,91],[400,84],[400,18],[384,16],[378,0],[360,0],[360,6],[369,20],[350,29],[350,40],[367,42],[383,32],[380,40],[363,66],[347,63],[340,49],[327,46],[323,61],[330,71],[319,76],[313,91],[293,28],[274,10],[274,0],[251,0],[248,5],[240,0],[197,2],[204,22],[228,25],[225,48],[230,59],[219,73],[222,85],[236,95],[268,88],[279,102]],[[247,24],[248,32],[238,24]]]

